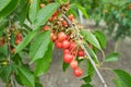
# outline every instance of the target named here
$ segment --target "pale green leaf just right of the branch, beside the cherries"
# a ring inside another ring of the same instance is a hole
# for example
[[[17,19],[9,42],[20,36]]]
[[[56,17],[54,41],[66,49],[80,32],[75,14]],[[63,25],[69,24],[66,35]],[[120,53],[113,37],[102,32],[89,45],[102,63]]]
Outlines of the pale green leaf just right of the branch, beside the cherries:
[[[96,47],[98,49],[102,49],[97,38],[95,37],[95,35],[93,35],[91,32],[88,32],[86,29],[82,29],[80,33],[83,35],[85,40],[91,42],[94,47]]]

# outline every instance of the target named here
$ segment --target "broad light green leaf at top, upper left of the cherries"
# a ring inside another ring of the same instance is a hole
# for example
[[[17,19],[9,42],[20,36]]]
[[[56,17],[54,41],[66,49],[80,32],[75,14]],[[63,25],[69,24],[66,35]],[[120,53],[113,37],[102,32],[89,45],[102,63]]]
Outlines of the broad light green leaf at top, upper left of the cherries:
[[[37,13],[35,23],[34,23],[34,29],[38,28],[39,26],[44,25],[49,17],[55,13],[55,11],[58,9],[58,3],[50,3],[47,4],[45,8],[40,9]]]

